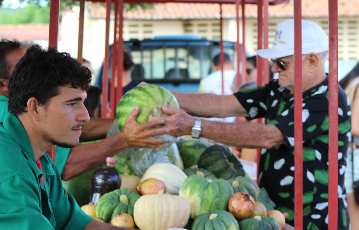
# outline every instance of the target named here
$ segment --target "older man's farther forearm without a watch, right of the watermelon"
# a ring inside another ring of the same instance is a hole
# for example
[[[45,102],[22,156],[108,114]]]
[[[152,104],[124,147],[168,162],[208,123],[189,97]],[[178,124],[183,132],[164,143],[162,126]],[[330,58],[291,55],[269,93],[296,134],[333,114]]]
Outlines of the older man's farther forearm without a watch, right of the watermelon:
[[[247,115],[246,110],[243,109],[234,95],[220,96],[213,93],[172,93],[177,98],[181,109],[194,116],[225,118],[229,116]]]

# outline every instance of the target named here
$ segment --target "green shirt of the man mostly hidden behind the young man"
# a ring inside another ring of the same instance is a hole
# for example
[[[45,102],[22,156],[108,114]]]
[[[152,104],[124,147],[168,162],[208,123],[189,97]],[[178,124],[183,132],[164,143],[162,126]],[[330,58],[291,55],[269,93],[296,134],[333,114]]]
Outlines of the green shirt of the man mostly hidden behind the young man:
[[[8,111],[9,98],[0,95],[0,122],[2,122],[5,117],[9,114]],[[60,175],[62,170],[64,170],[67,157],[69,157],[71,148],[62,148],[55,146],[55,164],[57,170],[59,170]]]

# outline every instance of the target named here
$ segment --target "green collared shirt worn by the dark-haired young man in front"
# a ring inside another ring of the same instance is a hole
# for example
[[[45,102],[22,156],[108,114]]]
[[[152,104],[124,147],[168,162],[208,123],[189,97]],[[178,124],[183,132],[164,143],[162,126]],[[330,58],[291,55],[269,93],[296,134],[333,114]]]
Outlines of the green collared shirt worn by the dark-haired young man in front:
[[[0,122],[1,229],[83,229],[92,218],[62,187],[59,171],[45,153],[38,169],[21,121]],[[44,185],[40,178],[44,176]]]

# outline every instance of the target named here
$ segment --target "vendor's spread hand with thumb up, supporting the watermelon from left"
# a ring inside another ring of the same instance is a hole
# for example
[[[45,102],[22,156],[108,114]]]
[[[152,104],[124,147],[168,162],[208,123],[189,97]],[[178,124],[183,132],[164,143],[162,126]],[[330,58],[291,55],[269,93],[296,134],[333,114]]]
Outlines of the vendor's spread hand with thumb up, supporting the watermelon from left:
[[[163,119],[149,121],[147,123],[138,124],[136,117],[140,112],[140,106],[136,106],[130,115],[126,118],[125,125],[121,132],[123,139],[128,144],[128,147],[150,147],[157,148],[161,144],[166,143],[166,140],[154,138],[155,135],[167,134],[168,128],[161,127],[151,129],[158,125],[165,124]]]

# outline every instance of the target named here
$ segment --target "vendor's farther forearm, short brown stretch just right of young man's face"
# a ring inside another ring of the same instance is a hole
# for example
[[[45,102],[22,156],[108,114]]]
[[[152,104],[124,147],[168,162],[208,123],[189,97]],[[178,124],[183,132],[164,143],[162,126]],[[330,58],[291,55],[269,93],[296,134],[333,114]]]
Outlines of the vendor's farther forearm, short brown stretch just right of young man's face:
[[[95,141],[106,138],[114,119],[90,118],[82,127],[81,141]]]

